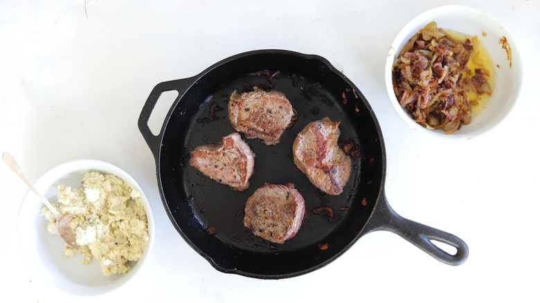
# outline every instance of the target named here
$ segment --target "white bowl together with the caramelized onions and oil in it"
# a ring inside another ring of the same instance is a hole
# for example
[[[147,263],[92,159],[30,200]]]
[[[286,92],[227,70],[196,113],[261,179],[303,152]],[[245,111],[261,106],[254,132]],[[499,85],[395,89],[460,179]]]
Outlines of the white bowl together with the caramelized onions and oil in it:
[[[409,21],[386,59],[386,89],[403,120],[446,138],[473,138],[501,122],[521,91],[521,57],[485,12],[440,6]]]

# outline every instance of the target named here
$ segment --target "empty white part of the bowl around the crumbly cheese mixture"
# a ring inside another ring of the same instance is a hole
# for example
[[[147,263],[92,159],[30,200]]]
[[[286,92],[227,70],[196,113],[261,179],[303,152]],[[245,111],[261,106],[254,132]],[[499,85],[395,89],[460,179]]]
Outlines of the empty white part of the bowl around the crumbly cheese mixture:
[[[92,258],[89,264],[82,264],[80,254],[62,259],[64,241],[58,235],[51,235],[47,230],[47,220],[39,216],[43,203],[33,192],[28,192],[22,201],[17,222],[17,236],[30,270],[51,286],[74,295],[100,295],[113,291],[129,281],[152,252],[154,243],[154,217],[150,202],[138,183],[122,169],[100,160],[73,160],[59,165],[41,176],[35,185],[51,203],[57,202],[57,185],[65,184],[81,188],[80,181],[85,172],[98,171],[114,174],[122,178],[143,195],[143,203],[148,220],[150,241],[139,261],[130,262],[131,270],[125,275],[102,274],[100,264]]]

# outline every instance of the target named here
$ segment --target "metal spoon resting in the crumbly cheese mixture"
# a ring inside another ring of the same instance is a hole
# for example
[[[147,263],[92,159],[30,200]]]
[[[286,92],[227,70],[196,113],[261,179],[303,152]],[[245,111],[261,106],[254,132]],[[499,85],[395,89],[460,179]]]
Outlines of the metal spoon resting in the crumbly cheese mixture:
[[[45,206],[51,210],[51,212],[53,212],[56,217],[56,231],[58,232],[58,235],[64,239],[67,245],[78,250],[80,246],[75,243],[77,236],[71,228],[71,221],[75,219],[75,216],[73,216],[73,214],[63,214],[62,212],[58,212],[53,205],[51,205],[51,203],[49,203],[49,201],[41,193],[39,193],[34,183],[30,180],[30,178],[28,178],[10,153],[3,153],[2,160],[10,167],[10,169],[12,169],[13,172],[15,172],[15,174],[17,174],[17,176],[19,176],[19,178],[22,179],[22,181],[24,181],[24,183],[26,183],[26,185],[28,185],[28,187],[30,187],[30,190],[32,190],[34,194],[36,194],[39,199],[42,200]]]

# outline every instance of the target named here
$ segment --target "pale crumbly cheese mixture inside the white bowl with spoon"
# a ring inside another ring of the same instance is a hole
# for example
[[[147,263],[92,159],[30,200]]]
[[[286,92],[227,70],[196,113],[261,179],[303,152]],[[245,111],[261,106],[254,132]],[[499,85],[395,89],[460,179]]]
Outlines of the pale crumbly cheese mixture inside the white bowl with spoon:
[[[87,172],[81,183],[83,188],[78,189],[58,186],[58,203],[54,206],[77,217],[71,227],[80,245],[80,250],[75,250],[66,244],[64,258],[80,252],[84,264],[96,257],[105,276],[127,273],[128,261],[141,259],[150,239],[141,192],[117,176],[100,172]],[[48,232],[56,235],[51,210],[44,207],[40,214],[48,220]]]

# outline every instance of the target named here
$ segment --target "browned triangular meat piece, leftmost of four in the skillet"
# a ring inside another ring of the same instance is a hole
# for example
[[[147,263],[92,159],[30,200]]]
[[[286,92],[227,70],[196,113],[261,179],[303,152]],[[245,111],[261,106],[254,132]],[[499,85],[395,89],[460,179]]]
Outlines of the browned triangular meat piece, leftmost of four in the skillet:
[[[244,191],[253,174],[255,154],[238,133],[223,137],[222,143],[201,145],[190,153],[190,165],[219,183]]]

